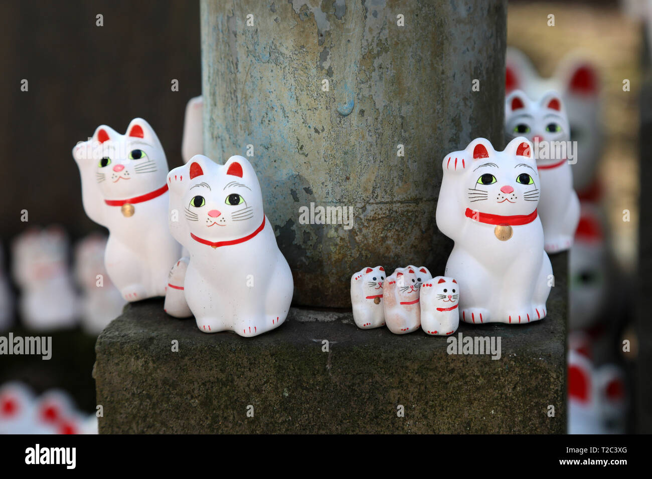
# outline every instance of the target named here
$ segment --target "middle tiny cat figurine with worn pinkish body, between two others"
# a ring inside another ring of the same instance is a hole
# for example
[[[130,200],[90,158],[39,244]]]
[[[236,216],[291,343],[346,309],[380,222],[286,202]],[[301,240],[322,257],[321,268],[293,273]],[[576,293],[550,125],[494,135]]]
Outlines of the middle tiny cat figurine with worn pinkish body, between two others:
[[[387,276],[383,289],[385,323],[394,334],[413,332],[421,326],[419,290],[424,280],[432,276],[425,267],[397,268]]]

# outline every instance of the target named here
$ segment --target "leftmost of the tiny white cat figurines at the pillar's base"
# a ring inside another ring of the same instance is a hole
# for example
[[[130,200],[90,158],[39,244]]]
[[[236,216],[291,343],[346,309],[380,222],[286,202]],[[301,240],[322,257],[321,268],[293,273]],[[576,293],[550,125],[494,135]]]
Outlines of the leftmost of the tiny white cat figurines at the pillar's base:
[[[351,276],[353,321],[361,329],[385,326],[383,281],[385,269],[366,267]]]

